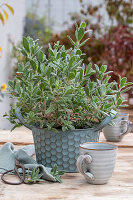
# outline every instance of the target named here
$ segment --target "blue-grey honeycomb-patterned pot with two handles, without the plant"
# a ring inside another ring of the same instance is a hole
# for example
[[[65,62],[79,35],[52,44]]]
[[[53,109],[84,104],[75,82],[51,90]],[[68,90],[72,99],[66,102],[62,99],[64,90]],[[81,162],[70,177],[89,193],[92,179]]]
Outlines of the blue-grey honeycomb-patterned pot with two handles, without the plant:
[[[76,160],[79,156],[80,144],[98,142],[99,131],[114,117],[114,115],[107,116],[95,128],[76,129],[65,132],[60,130],[58,133],[55,133],[25,124],[18,108],[16,108],[16,116],[22,124],[32,130],[37,162],[46,167],[53,167],[56,163],[59,170],[65,170],[66,172],[77,172]]]

